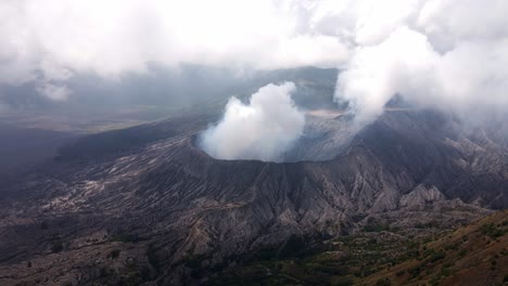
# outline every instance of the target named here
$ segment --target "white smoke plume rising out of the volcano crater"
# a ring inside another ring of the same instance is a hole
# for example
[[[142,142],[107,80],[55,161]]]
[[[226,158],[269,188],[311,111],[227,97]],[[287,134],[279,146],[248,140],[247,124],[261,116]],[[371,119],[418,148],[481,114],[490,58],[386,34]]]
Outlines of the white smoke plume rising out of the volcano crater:
[[[268,84],[249,104],[231,98],[223,119],[204,131],[200,146],[218,159],[280,161],[302,135],[305,116],[291,100],[293,82]]]

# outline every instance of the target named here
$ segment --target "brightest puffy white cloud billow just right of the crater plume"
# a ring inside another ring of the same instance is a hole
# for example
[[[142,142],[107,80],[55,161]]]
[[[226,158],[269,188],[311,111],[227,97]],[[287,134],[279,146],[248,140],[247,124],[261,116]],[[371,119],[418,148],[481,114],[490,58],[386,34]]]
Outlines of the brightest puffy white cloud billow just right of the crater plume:
[[[439,55],[427,37],[407,27],[396,29],[377,46],[359,47],[339,75],[335,98],[347,101],[359,121],[370,121],[401,92],[429,93]]]

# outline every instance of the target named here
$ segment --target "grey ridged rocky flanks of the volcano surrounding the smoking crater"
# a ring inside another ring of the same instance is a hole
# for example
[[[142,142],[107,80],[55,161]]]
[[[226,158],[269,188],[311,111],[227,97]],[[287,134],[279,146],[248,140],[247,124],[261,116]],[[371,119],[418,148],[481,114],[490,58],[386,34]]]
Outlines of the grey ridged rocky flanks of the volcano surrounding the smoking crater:
[[[344,234],[361,223],[358,214],[404,217],[435,204],[467,206],[470,213],[508,206],[508,150],[499,134],[466,131],[432,110],[388,110],[356,132],[344,129],[344,115],[321,119],[312,120],[314,129],[289,157],[303,161],[213,159],[193,145],[206,120],[189,118],[160,122],[155,129],[167,138],[144,147],[61,157],[3,203],[0,261],[8,268],[50,257],[55,240],[64,242],[60,256],[99,251],[130,235],[138,243],[132,259],[151,259],[139,255],[140,245],[156,249],[154,277],[173,283],[185,276],[179,261],[200,257],[214,265],[292,235]]]

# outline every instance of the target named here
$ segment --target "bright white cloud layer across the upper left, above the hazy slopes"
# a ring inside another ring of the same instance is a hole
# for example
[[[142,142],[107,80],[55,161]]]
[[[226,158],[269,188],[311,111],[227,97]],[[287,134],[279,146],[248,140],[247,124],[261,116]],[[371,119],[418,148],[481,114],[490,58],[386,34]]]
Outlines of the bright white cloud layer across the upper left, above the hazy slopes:
[[[336,38],[300,34],[292,1],[7,0],[0,2],[0,82],[60,80],[62,70],[117,77],[155,62],[335,66]],[[55,72],[58,72],[55,74]]]

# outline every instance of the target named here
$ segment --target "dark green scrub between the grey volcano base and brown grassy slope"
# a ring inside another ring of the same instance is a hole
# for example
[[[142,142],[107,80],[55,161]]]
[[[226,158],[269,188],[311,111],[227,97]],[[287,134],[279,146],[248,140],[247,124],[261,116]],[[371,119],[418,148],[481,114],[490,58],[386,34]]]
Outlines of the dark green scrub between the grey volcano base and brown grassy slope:
[[[398,235],[360,233],[327,244],[292,236],[262,249],[256,258],[230,269],[211,285],[355,285],[355,281],[416,256],[418,243]],[[391,285],[390,280],[383,280]]]

